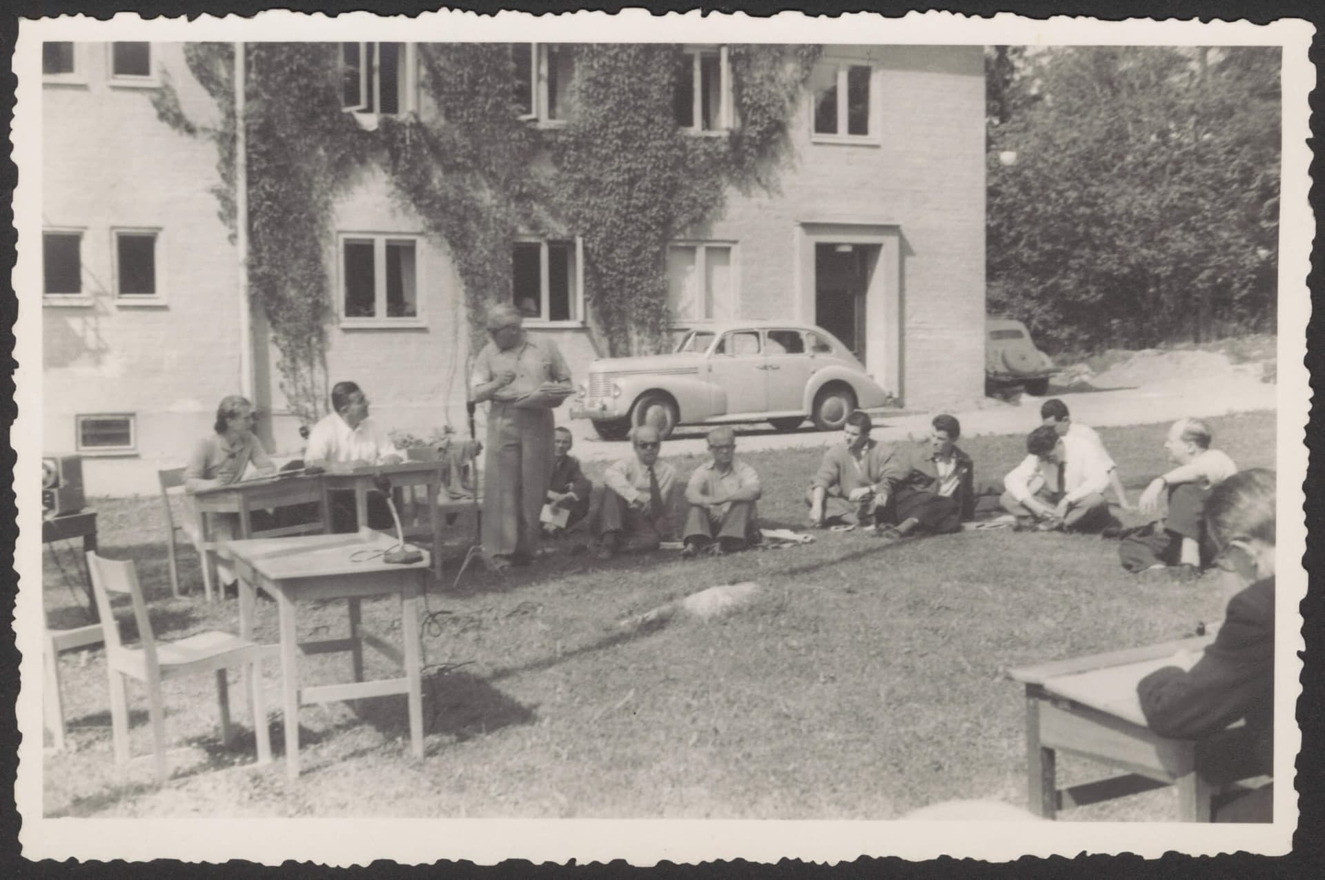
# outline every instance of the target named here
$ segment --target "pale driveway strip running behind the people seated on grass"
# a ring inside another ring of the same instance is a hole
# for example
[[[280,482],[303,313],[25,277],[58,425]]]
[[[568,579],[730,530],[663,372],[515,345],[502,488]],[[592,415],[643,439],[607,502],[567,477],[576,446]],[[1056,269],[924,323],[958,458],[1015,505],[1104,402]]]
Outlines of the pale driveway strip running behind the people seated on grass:
[[[1132,387],[1081,390],[1049,388],[1049,396],[1068,404],[1072,417],[1104,428],[1112,425],[1173,421],[1182,416],[1220,416],[1276,408],[1276,386],[1260,380],[1260,364],[1226,367],[1207,375],[1186,375]],[[984,398],[967,407],[950,410],[962,423],[962,436],[1026,433],[1040,424],[1044,398],[1020,395],[1015,400]],[[920,439],[928,435],[934,412],[876,410],[874,432],[880,440]],[[575,436],[575,455],[582,461],[615,460],[628,453],[625,441],[600,440],[591,421],[562,420]],[[664,444],[668,456],[705,453],[704,427],[678,428]],[[837,433],[815,431],[807,420],[798,431],[774,431],[768,424],[737,425],[741,452],[823,447],[840,440]]]

